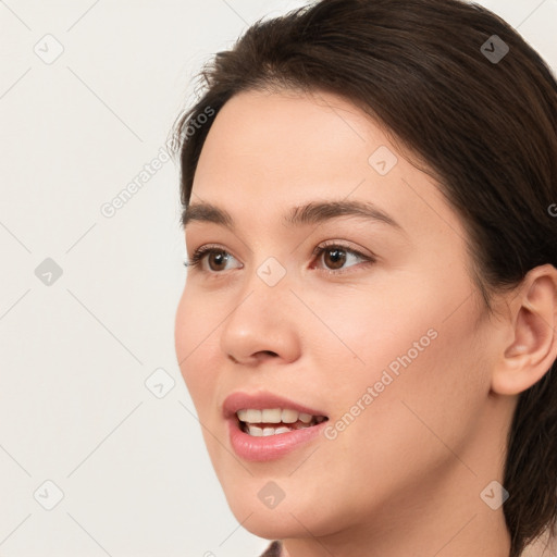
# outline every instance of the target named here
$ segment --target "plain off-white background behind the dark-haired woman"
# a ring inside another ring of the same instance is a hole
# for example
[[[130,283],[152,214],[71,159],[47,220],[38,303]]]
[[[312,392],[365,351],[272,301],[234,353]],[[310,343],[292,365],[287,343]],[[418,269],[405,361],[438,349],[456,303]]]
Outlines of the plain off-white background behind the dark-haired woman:
[[[481,3],[557,67],[557,0]],[[174,163],[112,218],[100,208],[158,156],[202,63],[304,4],[0,1],[0,556],[268,545],[228,510],[174,354],[186,277]],[[63,47],[52,63],[47,34]],[[35,274],[47,258],[63,272],[51,285]],[[156,392],[175,382],[162,398],[145,384],[160,368]],[[51,510],[47,480],[63,492]]]

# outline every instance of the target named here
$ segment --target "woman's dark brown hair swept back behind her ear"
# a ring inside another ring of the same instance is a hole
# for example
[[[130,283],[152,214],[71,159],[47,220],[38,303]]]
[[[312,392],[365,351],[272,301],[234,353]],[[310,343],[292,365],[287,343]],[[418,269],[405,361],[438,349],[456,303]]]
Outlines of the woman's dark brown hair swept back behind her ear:
[[[381,123],[442,184],[490,310],[491,293],[534,267],[557,267],[557,83],[485,8],[322,0],[258,21],[200,76],[203,95],[173,128],[184,208],[213,122],[208,110],[246,90],[323,90]],[[504,513],[518,557],[546,528],[555,535],[557,362],[519,395],[507,447]]]

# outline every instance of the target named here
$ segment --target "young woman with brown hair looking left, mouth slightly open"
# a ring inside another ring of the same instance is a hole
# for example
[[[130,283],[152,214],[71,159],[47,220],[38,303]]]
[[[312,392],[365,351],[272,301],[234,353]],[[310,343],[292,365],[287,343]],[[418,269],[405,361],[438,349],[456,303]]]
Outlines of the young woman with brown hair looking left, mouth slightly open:
[[[555,534],[547,65],[479,5],[323,0],[203,76],[175,341],[237,520],[282,557]]]

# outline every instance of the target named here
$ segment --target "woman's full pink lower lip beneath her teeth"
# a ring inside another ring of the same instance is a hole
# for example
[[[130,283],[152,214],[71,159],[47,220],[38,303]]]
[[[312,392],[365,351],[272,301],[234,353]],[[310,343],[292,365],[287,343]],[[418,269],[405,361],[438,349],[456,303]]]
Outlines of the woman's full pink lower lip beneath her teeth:
[[[281,458],[301,445],[314,440],[323,430],[327,420],[310,428],[293,430],[288,433],[255,437],[239,429],[236,418],[228,420],[228,433],[232,448],[244,460],[265,461]]]

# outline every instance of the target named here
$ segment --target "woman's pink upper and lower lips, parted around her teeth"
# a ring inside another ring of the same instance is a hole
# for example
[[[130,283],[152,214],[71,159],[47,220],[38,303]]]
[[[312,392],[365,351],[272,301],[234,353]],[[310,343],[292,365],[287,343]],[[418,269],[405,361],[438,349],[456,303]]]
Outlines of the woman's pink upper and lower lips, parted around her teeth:
[[[326,416],[325,412],[321,410],[314,410],[313,408],[271,393],[261,392],[253,395],[233,393],[224,400],[223,413],[228,424],[232,448],[238,457],[245,460],[261,462],[280,458],[318,437],[322,429],[326,425],[326,421],[324,421],[317,425],[290,431],[288,433],[253,437],[239,429],[236,412],[245,408],[256,410],[262,410],[264,408],[292,408],[298,412],[310,413],[312,416]]]

